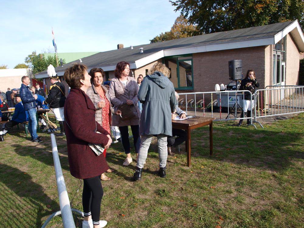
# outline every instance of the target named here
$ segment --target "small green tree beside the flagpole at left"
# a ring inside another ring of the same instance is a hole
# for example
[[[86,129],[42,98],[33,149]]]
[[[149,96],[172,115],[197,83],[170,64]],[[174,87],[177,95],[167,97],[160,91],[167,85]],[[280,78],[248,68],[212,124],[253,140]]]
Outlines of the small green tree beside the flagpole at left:
[[[44,57],[43,54],[38,54],[36,51],[33,51],[32,54],[29,54],[25,58],[25,62],[29,64],[29,68],[32,69],[33,74],[40,73],[42,71],[47,70],[47,67],[52,64],[54,67],[57,67],[56,56],[48,56]],[[65,60],[63,60],[63,64],[65,64]]]

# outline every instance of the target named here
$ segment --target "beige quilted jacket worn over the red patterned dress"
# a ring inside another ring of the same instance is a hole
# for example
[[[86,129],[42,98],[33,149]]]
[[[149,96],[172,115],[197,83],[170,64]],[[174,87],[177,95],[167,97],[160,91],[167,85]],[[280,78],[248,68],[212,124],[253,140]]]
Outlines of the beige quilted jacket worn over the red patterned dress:
[[[105,88],[105,86],[101,85],[101,87],[102,87],[103,91],[105,92],[105,97],[110,102],[109,122],[110,122],[110,125],[112,125],[112,113],[114,113],[114,109],[112,108],[112,105],[111,105],[111,101],[110,101],[110,97],[109,97],[109,91],[108,91],[107,88]],[[96,109],[95,120],[100,125],[102,125],[102,108],[98,107],[98,102],[100,102],[101,99],[100,99],[100,96],[99,96],[98,92],[96,92],[94,84],[92,84],[92,87],[88,88],[87,95],[92,100],[92,102],[95,106],[95,109]]]

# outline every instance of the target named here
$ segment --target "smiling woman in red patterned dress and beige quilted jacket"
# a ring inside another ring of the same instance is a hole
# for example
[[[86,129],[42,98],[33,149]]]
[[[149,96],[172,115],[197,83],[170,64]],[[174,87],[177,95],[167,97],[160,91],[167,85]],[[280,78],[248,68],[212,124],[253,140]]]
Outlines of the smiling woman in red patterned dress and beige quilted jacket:
[[[90,70],[92,87],[88,88],[87,95],[95,105],[95,120],[110,134],[110,125],[112,123],[112,113],[114,109],[111,106],[108,89],[103,85],[103,77],[105,76],[102,68],[93,68]],[[117,111],[117,114],[119,110]],[[103,152],[106,155],[106,152]],[[112,172],[112,169],[108,169],[107,173]],[[102,181],[109,181],[111,178],[107,177],[104,173],[101,175]]]

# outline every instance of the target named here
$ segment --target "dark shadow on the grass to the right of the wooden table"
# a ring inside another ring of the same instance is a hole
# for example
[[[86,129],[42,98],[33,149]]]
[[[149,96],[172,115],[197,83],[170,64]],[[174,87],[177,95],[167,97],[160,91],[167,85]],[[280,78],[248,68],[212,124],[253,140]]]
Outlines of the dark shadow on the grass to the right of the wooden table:
[[[218,122],[217,122],[218,123]],[[226,128],[213,125],[213,156],[209,156],[209,132],[205,128],[192,132],[192,157],[243,164],[271,171],[284,170],[291,158],[304,158],[303,134],[281,129]],[[194,153],[193,153],[194,152]]]

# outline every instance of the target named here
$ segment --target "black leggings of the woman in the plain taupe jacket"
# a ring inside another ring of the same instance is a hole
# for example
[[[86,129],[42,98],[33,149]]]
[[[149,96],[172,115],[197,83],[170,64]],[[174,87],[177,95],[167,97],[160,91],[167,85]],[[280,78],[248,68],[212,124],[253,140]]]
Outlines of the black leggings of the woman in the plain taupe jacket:
[[[123,144],[123,149],[126,154],[130,154],[130,141],[129,141],[129,131],[128,126],[118,127],[121,136],[121,143]],[[133,141],[135,152],[138,154],[140,146],[140,137],[139,137],[139,125],[131,125],[131,130],[133,134]]]

